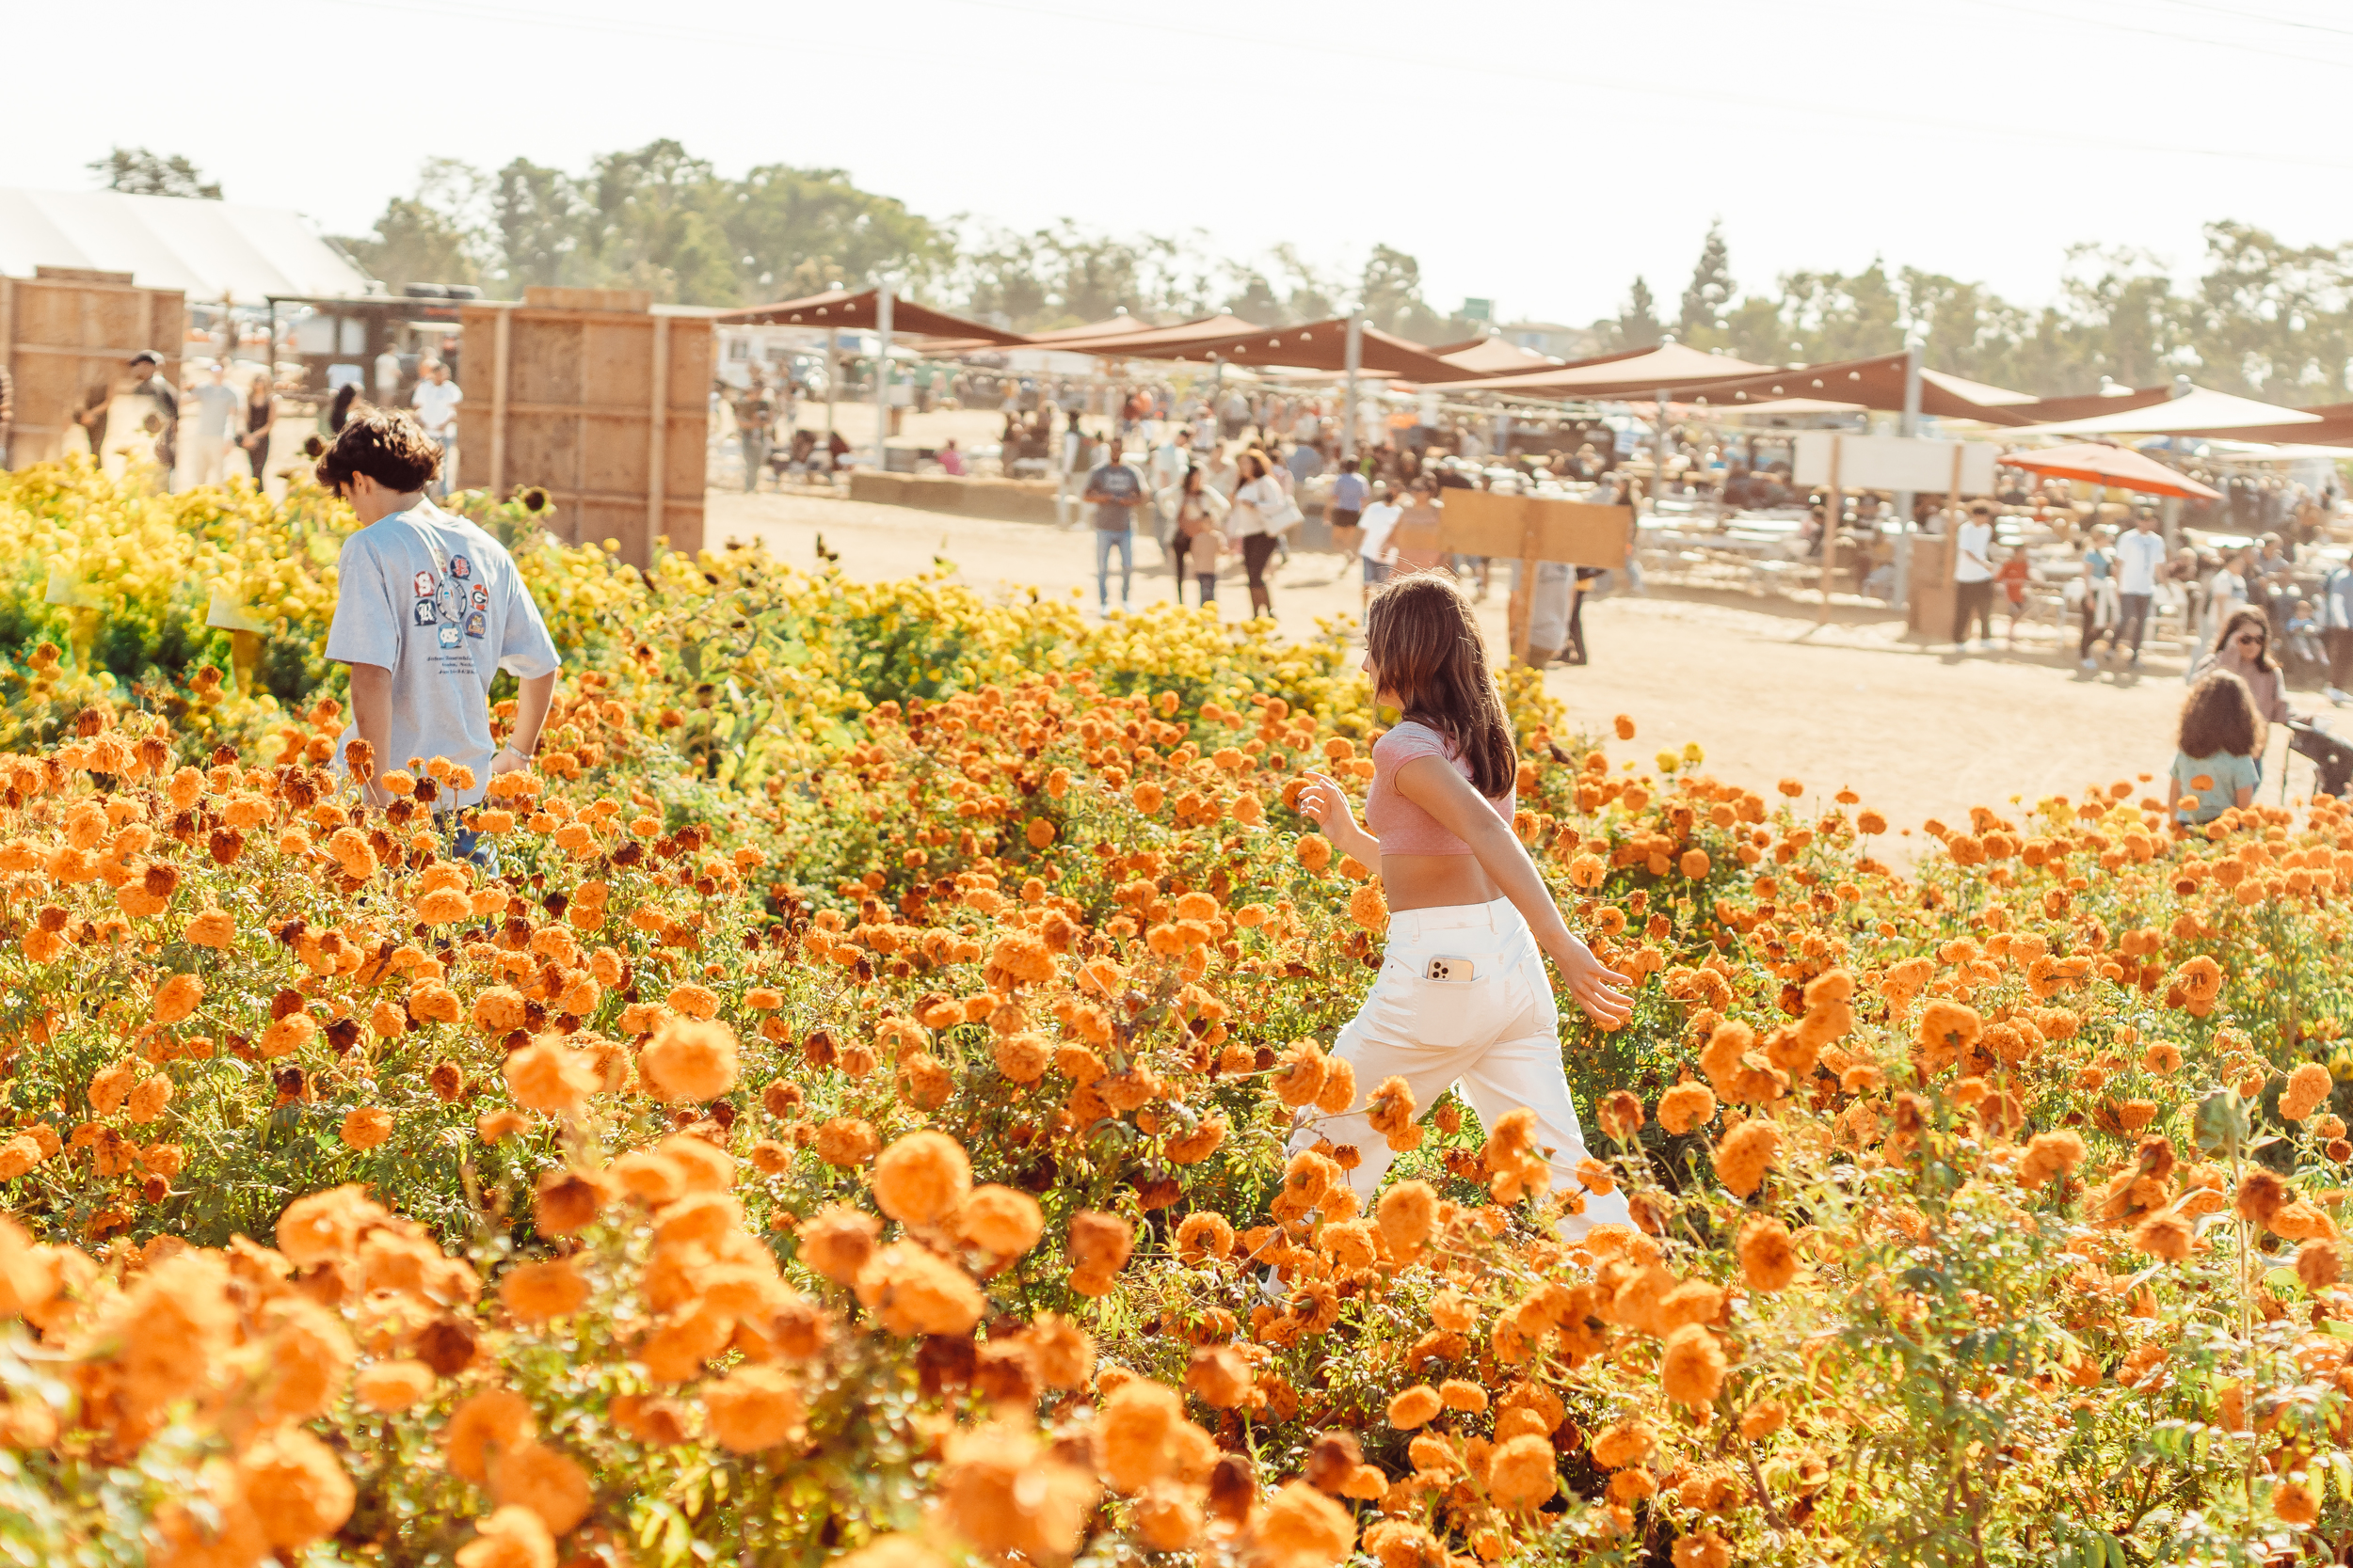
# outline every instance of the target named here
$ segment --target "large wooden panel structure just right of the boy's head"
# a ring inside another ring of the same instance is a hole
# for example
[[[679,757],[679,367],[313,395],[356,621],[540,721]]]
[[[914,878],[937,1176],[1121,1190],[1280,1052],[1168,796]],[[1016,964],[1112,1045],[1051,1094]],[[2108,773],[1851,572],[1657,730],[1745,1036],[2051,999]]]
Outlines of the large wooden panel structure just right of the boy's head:
[[[654,310],[642,289],[525,289],[466,303],[459,482],[539,484],[569,541],[704,545],[711,320]]]

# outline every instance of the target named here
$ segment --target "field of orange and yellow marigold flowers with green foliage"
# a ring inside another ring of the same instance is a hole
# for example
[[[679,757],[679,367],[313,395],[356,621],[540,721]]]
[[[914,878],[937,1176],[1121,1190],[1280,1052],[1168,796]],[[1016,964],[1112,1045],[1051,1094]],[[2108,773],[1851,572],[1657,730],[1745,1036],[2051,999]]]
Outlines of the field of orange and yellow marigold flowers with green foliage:
[[[1287,806],[1369,773],[1339,639],[518,559],[574,663],[494,872],[447,764],[320,766],[332,675],[0,649],[0,1561],[2353,1542],[2334,802],[1995,802],[1899,877],[1513,679],[1518,832],[1640,976],[1558,1192],[1322,1051],[1386,922]],[[1369,1208],[1311,1105],[1400,1150]]]

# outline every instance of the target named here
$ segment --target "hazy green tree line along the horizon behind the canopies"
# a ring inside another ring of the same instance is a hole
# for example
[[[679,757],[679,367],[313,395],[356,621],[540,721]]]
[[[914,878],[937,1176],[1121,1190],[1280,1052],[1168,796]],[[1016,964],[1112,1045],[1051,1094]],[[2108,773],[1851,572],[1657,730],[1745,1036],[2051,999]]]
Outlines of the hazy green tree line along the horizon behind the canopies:
[[[115,148],[89,165],[118,190],[219,197],[186,158]],[[1212,310],[1287,324],[1360,306],[1398,336],[1442,343],[1480,322],[1424,299],[1412,254],[1377,244],[1332,268],[1282,244],[1221,256],[1200,230],[1108,235],[1064,219],[1014,230],[946,219],[856,186],[845,169],[760,165],[720,174],[678,141],[605,153],[567,172],[515,158],[485,172],[433,158],[376,226],[341,240],[384,282],[466,282],[499,299],[529,284],[640,287],[659,301],[741,306],[864,284],[894,273],[951,310],[1016,331]],[[1673,313],[1633,280],[1586,348],[1668,336],[1765,364],[1852,360],[1925,346],[1934,369],[2045,397],[2101,378],[2153,386],[2191,376],[2271,402],[2353,397],[2353,242],[2294,247],[2249,223],[2205,226],[2202,270],[2177,282],[2146,252],[2068,249],[2059,299],[2007,301],[1979,282],[1873,261],[1859,273],[1795,270],[1741,289],[1711,226]]]

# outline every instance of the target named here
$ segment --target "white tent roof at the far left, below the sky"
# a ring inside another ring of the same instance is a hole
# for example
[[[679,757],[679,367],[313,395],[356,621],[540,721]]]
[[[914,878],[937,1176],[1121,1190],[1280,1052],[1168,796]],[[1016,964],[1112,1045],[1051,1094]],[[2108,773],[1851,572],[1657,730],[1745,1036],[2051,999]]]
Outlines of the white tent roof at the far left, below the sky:
[[[299,212],[120,190],[0,188],[0,273],[33,268],[129,273],[193,301],[381,294]]]

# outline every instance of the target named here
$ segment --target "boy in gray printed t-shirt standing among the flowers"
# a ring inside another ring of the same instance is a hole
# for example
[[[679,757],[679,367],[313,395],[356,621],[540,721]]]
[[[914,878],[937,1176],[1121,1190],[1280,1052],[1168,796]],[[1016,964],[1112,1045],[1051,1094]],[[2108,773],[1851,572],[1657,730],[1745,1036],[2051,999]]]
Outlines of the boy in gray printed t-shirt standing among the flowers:
[[[318,461],[318,482],[351,501],[360,531],[344,541],[327,628],[327,658],[351,665],[351,726],[334,743],[367,741],[376,776],[409,759],[473,771],[471,790],[445,790],[435,811],[473,806],[494,773],[532,764],[555,696],[560,658],[506,548],[426,501],[440,447],[407,414],[367,409]],[[506,745],[489,733],[489,682],[522,684]],[[372,804],[388,797],[369,783]]]

